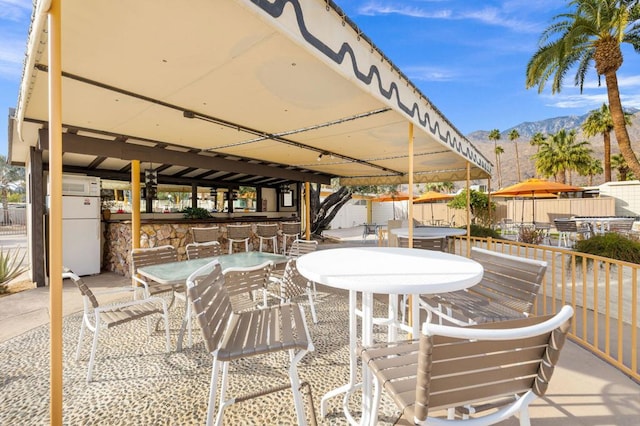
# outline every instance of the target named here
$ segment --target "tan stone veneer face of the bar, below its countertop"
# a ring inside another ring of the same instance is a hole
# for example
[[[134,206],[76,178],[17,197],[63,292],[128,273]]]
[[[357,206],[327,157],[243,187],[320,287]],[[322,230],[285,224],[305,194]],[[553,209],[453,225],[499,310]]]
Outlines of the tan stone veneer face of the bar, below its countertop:
[[[264,221],[260,223],[275,223],[278,225],[278,246],[281,249],[281,222]],[[234,225],[251,225],[252,235],[249,239],[249,250],[258,250],[260,247],[260,239],[256,235],[256,222],[234,222]],[[126,277],[131,276],[131,222],[106,222],[105,223],[105,241],[103,250],[103,266],[104,271],[115,272]],[[210,226],[218,226],[218,241],[222,246],[222,252],[227,253],[229,250],[227,240],[227,224],[225,223],[147,223],[140,225],[140,247],[158,247],[163,245],[172,245],[178,250],[178,258],[184,260],[187,258],[185,247],[193,242],[191,228],[204,228]],[[234,251],[239,251],[240,244],[236,244]],[[263,250],[273,252],[271,241],[263,243]]]

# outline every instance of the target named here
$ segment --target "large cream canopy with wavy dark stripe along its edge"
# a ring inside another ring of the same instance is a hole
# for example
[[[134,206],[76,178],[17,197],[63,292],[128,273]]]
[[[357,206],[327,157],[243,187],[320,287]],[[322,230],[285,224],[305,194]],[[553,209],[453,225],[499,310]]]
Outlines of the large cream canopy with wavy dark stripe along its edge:
[[[491,173],[491,162],[332,1],[196,0],[185,8],[66,0],[61,8],[64,161],[73,172],[140,160],[143,172],[160,165],[160,181],[406,183],[413,123],[416,183],[465,180],[467,162],[472,179]],[[36,146],[47,161],[47,23],[34,16],[10,129],[14,164]]]

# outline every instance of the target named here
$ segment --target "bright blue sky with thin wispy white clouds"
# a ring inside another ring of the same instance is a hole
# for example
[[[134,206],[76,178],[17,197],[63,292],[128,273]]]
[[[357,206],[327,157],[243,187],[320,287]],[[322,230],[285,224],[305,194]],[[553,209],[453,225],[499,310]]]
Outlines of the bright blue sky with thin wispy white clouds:
[[[463,133],[581,115],[606,102],[595,72],[582,94],[567,75],[560,94],[525,89],[527,62],[561,0],[336,0],[365,34]],[[31,0],[0,0],[0,154],[18,97]],[[640,108],[640,54],[623,50],[625,107]]]

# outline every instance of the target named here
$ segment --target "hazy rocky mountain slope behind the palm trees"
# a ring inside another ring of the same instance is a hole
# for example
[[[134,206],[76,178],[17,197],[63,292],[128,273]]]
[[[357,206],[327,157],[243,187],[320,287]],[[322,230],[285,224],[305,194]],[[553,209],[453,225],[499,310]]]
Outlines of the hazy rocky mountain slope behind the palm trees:
[[[640,153],[640,109],[629,108],[627,109],[627,112],[632,114],[631,126],[628,127],[631,144],[634,151],[636,153]],[[593,156],[602,161],[604,159],[602,135],[587,138],[584,136],[581,129],[582,123],[586,120],[589,114],[590,113],[581,116],[572,115],[534,122],[524,122],[501,132],[500,139],[497,141],[497,144],[504,149],[504,154],[502,154],[500,160],[502,169],[502,186],[511,185],[518,182],[518,180],[536,176],[534,161],[531,159],[531,156],[536,153],[536,147],[531,146],[529,142],[533,135],[538,132],[543,135],[552,135],[561,129],[575,130],[577,140],[588,141],[591,144]],[[509,140],[509,133],[513,129],[517,130],[520,134],[520,137],[515,140],[518,144],[518,156],[520,157],[520,179],[518,179],[517,164],[515,160],[515,144],[514,141]],[[480,150],[480,152],[485,155],[485,157],[487,157],[489,161],[494,163],[494,174],[491,180],[491,186],[493,188],[498,188],[499,184],[497,168],[495,167],[496,157],[494,153],[494,142],[489,140],[489,132],[489,130],[477,130],[469,133],[466,137]],[[611,132],[611,155],[618,154],[619,152],[615,134]],[[612,170],[611,174],[615,180],[615,170]],[[576,173],[573,173],[568,180],[570,180],[570,182],[568,181],[567,183],[572,183],[574,185],[589,185],[588,177],[578,176]],[[601,183],[604,183],[604,175],[594,176],[592,184],[600,185]]]

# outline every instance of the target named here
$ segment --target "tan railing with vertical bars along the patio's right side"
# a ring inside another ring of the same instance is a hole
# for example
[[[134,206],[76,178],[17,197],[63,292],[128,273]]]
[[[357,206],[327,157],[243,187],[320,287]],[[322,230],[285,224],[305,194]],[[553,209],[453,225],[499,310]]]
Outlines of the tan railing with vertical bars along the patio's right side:
[[[640,265],[568,249],[471,237],[471,245],[547,262],[536,315],[569,304],[575,311],[570,338],[640,382],[638,371],[638,270]],[[467,256],[467,237],[456,237]]]

